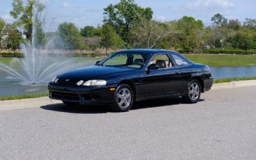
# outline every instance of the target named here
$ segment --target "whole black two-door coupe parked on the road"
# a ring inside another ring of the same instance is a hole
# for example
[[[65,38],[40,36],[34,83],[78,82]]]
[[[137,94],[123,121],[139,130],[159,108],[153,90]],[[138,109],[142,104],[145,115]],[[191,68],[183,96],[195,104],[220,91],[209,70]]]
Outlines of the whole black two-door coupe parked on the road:
[[[111,54],[92,67],[79,68],[52,79],[49,97],[68,106],[111,104],[128,111],[138,100],[182,96],[197,102],[210,90],[207,65],[193,63],[181,54],[162,49],[129,49]]]

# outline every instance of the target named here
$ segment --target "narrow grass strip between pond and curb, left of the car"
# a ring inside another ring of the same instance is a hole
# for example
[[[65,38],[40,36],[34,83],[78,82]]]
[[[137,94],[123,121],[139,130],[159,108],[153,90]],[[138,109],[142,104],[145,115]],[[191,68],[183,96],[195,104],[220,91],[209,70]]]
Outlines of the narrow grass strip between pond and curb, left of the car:
[[[48,92],[31,93],[26,95],[8,95],[8,96],[1,96],[0,100],[33,99],[33,98],[39,98],[39,97],[47,97],[48,95],[49,95]]]

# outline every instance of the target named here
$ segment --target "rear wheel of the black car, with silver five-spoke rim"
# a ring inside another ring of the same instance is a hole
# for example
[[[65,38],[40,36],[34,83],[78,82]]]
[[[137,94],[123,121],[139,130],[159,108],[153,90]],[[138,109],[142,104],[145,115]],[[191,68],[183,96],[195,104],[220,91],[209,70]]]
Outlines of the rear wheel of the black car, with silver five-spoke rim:
[[[188,83],[186,95],[182,96],[182,99],[187,103],[196,103],[200,99],[200,95],[201,85],[196,79],[193,79]]]

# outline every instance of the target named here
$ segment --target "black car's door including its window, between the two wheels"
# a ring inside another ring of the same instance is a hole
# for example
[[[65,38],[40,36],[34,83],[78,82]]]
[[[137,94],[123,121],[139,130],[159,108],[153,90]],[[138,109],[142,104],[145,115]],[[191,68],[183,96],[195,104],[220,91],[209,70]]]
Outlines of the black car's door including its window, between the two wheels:
[[[140,92],[143,95],[159,95],[180,92],[180,69],[173,67],[168,54],[156,54],[148,65],[157,63],[158,69],[148,70],[143,76]],[[164,65],[165,63],[165,65]]]

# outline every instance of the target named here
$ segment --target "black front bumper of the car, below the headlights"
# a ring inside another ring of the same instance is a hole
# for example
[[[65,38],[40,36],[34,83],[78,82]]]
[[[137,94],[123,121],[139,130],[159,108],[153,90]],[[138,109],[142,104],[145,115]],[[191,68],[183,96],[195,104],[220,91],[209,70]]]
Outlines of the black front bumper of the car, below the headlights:
[[[85,104],[110,104],[113,102],[117,84],[106,86],[64,86],[54,83],[48,84],[49,98],[68,102]]]

